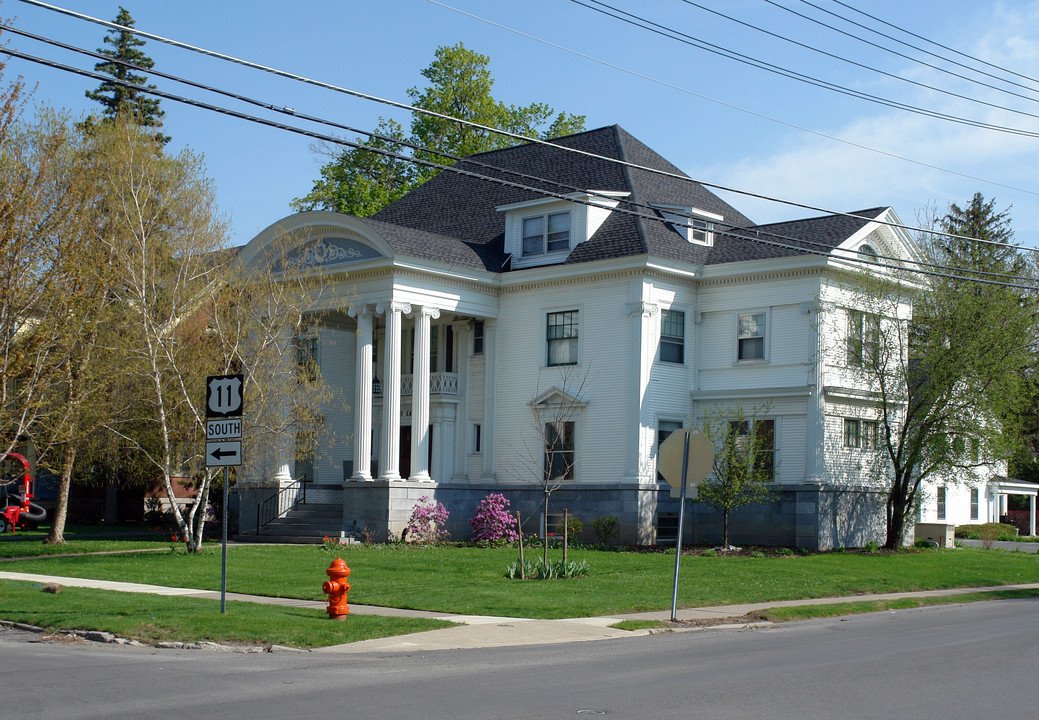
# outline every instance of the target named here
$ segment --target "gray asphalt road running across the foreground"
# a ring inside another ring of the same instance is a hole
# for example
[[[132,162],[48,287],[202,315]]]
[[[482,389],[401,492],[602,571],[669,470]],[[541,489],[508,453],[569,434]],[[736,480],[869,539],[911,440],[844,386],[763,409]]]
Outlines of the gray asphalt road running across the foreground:
[[[1035,717],[1039,601],[480,650],[221,654],[0,630],[0,718]]]

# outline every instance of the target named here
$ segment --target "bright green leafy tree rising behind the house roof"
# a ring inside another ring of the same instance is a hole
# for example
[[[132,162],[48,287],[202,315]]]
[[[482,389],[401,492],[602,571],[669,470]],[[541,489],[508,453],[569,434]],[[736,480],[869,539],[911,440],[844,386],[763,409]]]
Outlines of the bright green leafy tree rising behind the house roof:
[[[542,139],[584,130],[584,115],[556,113],[543,103],[516,107],[496,100],[491,95],[495,81],[489,62],[486,55],[469,50],[461,43],[437,48],[433,62],[422,71],[429,84],[423,89],[412,87],[408,96],[416,107],[447,117],[415,112],[410,135],[406,137],[400,125],[381,119],[380,137],[358,137],[356,141],[376,151],[451,165],[455,160],[448,156],[464,157],[516,144],[511,137],[458,121]],[[406,140],[428,151],[410,153],[395,140]],[[364,149],[337,151],[332,160],[321,168],[321,177],[311,192],[294,199],[292,207],[296,211],[332,210],[368,217],[438,171]]]

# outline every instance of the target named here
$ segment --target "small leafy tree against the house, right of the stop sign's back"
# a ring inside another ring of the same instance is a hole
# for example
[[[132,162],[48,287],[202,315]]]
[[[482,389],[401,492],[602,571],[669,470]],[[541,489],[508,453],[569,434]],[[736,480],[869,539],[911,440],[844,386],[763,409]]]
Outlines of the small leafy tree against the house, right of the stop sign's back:
[[[722,517],[722,544],[728,546],[728,519],[734,510],[775,499],[775,421],[743,407],[721,409],[703,419],[703,434],[715,446],[712,474],[697,487],[696,502]]]

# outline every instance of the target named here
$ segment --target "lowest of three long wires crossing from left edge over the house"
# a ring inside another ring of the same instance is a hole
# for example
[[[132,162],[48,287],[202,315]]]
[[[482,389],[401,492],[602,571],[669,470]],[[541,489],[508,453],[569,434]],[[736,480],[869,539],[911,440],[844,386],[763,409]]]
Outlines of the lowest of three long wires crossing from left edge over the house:
[[[87,54],[90,54],[89,51],[83,51],[83,52],[85,52]],[[569,195],[565,195],[565,194],[561,194],[561,193],[557,193],[557,192],[552,192],[552,191],[545,190],[543,188],[536,188],[536,187],[529,186],[529,185],[524,185],[522,183],[515,183],[515,182],[512,182],[512,181],[507,181],[507,180],[504,180],[504,179],[501,179],[501,178],[491,178],[489,176],[481,175],[479,172],[473,172],[471,170],[467,170],[464,168],[460,168],[460,167],[458,167],[456,165],[443,165],[443,164],[436,163],[436,162],[431,162],[431,161],[427,161],[427,160],[421,160],[421,159],[415,158],[415,157],[404,156],[404,155],[401,155],[399,153],[395,153],[395,152],[392,152],[392,151],[387,151],[387,150],[382,150],[382,149],[372,148],[372,146],[365,145],[365,144],[359,143],[359,142],[354,142],[354,141],[346,140],[346,139],[339,138],[339,137],[336,137],[336,136],[332,136],[332,135],[327,135],[327,134],[324,134],[324,133],[318,133],[318,132],[315,132],[315,131],[312,131],[312,130],[305,130],[303,128],[298,128],[298,127],[286,125],[286,124],[283,124],[283,123],[276,123],[274,121],[270,121],[270,119],[263,118],[263,117],[258,117],[256,115],[249,115],[247,113],[243,113],[243,112],[240,112],[240,111],[237,111],[237,110],[233,110],[233,109],[230,109],[230,108],[224,108],[224,107],[220,107],[220,106],[217,106],[217,105],[212,105],[210,103],[206,103],[206,102],[203,102],[203,101],[199,101],[199,100],[185,98],[183,96],[178,96],[178,95],[175,95],[172,92],[165,91],[165,90],[159,90],[158,88],[142,87],[140,85],[135,85],[133,83],[129,83],[129,82],[126,82],[126,81],[122,81],[122,80],[117,80],[117,79],[111,78],[108,75],[103,75],[103,74],[100,74],[100,73],[96,73],[96,72],[92,72],[92,71],[86,71],[86,70],[82,70],[82,69],[79,69],[79,68],[73,68],[73,66],[66,65],[64,63],[60,63],[60,62],[57,62],[57,61],[54,61],[54,60],[48,60],[48,59],[45,59],[45,58],[36,57],[34,55],[29,55],[28,53],[23,53],[23,52],[20,52],[20,51],[17,51],[17,50],[12,50],[10,48],[0,49],[0,53],[9,55],[11,57],[18,57],[20,59],[25,59],[25,60],[28,60],[30,62],[36,62],[38,64],[43,64],[43,65],[49,66],[49,68],[53,68],[53,69],[56,69],[56,70],[61,70],[61,71],[69,72],[69,73],[74,73],[74,74],[77,74],[77,75],[80,75],[80,76],[83,76],[83,77],[92,78],[95,80],[109,80],[109,81],[115,82],[116,84],[122,84],[122,85],[127,86],[127,87],[133,87],[134,89],[137,89],[139,91],[151,94],[151,95],[155,95],[155,96],[163,98],[165,100],[170,100],[170,101],[174,101],[174,102],[179,102],[179,103],[191,105],[191,106],[198,107],[198,108],[202,108],[202,109],[205,109],[205,110],[210,110],[210,111],[218,112],[218,113],[225,114],[225,115],[229,115],[229,116],[232,116],[232,117],[236,117],[236,118],[239,118],[239,119],[245,119],[245,121],[248,121],[248,122],[252,122],[252,123],[257,123],[257,124],[260,124],[260,125],[267,126],[267,127],[271,127],[271,128],[274,128],[274,129],[286,130],[286,131],[293,132],[293,133],[300,134],[300,135],[304,135],[307,137],[311,137],[311,138],[314,138],[314,139],[319,139],[319,140],[323,140],[323,141],[326,141],[326,142],[331,142],[331,143],[335,143],[335,144],[342,144],[342,145],[346,145],[346,146],[357,149],[357,150],[372,152],[372,153],[376,153],[378,155],[382,155],[382,156],[390,157],[390,158],[393,158],[393,159],[402,160],[402,161],[405,161],[405,162],[410,162],[410,163],[423,165],[423,166],[426,166],[426,167],[432,167],[432,168],[435,168],[435,169],[438,169],[438,170],[442,170],[442,171],[455,172],[455,174],[458,174],[458,175],[462,175],[462,176],[465,176],[465,177],[474,178],[474,179],[481,180],[481,181],[484,181],[484,182],[490,182],[490,183],[495,183],[495,184],[498,184],[498,185],[503,185],[503,186],[506,186],[506,187],[512,187],[512,188],[516,188],[516,189],[521,189],[521,190],[526,190],[526,191],[538,193],[538,194],[541,194],[541,195],[548,195],[548,196],[551,196],[551,197],[557,197],[557,198],[560,198],[560,199],[566,199],[566,201],[571,202],[571,203],[577,203],[577,204],[582,204],[582,205],[589,205],[589,206],[596,206],[597,207],[597,204],[595,204],[593,202],[590,202],[590,201],[582,201],[580,198],[575,198],[575,197],[571,197]],[[124,63],[124,64],[130,64],[130,63]],[[190,82],[193,83],[193,81],[190,81]],[[193,83],[193,84],[195,84],[196,86],[203,86],[203,85],[201,85],[201,83]],[[205,87],[205,86],[203,86],[203,87]],[[256,102],[259,102],[259,101],[256,101]],[[285,113],[285,114],[292,114],[292,115],[297,115],[298,116],[298,113],[296,113],[293,110],[290,110],[289,108],[277,107],[277,106],[273,106],[273,105],[270,105],[270,104],[262,104],[262,105],[264,107],[269,108],[269,109],[276,110],[277,112],[282,112],[282,113]],[[553,146],[560,148],[559,145],[553,145]],[[467,160],[465,162],[468,163],[470,161]],[[496,167],[489,166],[489,165],[487,167],[490,168],[490,169],[496,169],[496,170],[499,170],[499,171],[504,171],[504,168],[496,168]],[[552,181],[545,181],[544,179],[538,179],[538,180],[540,180],[542,182],[549,182],[549,183],[552,182]],[[686,180],[688,180],[688,178]],[[639,213],[639,212],[628,210],[627,208],[617,207],[617,208],[614,209],[614,211],[621,212],[621,213],[628,214],[628,215],[634,215],[634,216],[637,216],[637,217],[643,217],[643,218],[646,218],[646,219],[651,219],[651,220],[658,221],[658,222],[666,222],[666,220],[664,220],[659,215],[646,215],[644,213]],[[858,216],[850,215],[850,217],[858,217]],[[879,220],[876,220],[876,219],[872,219],[872,218],[860,218],[860,219],[864,219],[864,220],[868,220],[868,221],[874,221],[874,222],[882,223],[882,221],[879,221]],[[847,257],[847,256],[842,256],[842,255],[834,255],[833,250],[835,250],[837,248],[833,248],[833,247],[827,246],[825,249],[819,249],[819,250],[812,249],[811,247],[805,247],[804,245],[812,245],[812,244],[818,245],[819,243],[812,243],[810,241],[804,241],[804,240],[799,239],[799,238],[790,238],[790,240],[792,240],[793,242],[798,243],[797,245],[792,245],[792,244],[780,242],[780,241],[776,241],[776,240],[769,240],[767,237],[766,238],[762,238],[761,236],[763,234],[765,236],[772,236],[772,237],[774,237],[774,235],[770,234],[768,231],[763,231],[761,229],[753,229],[753,228],[751,228],[751,229],[743,229],[743,228],[738,228],[736,225],[729,225],[729,228],[730,228],[730,230],[726,231],[724,233],[725,235],[728,235],[729,237],[734,237],[734,238],[737,238],[737,239],[746,240],[746,241],[749,241],[749,242],[754,242],[754,243],[757,243],[757,244],[769,245],[769,246],[777,247],[777,248],[781,248],[781,249],[795,250],[797,252],[802,252],[802,254],[805,254],[805,255],[815,255],[815,256],[820,256],[820,257],[833,258],[835,260],[850,262],[850,263],[853,263],[853,264],[869,265],[869,266],[874,266],[874,267],[879,267],[879,268],[885,268],[885,269],[889,269],[889,270],[909,271],[909,272],[913,272],[915,274],[922,274],[922,275],[926,275],[926,276],[945,277],[945,278],[949,278],[949,279],[957,279],[957,281],[963,281],[963,282],[969,282],[969,283],[977,283],[977,284],[981,284],[981,285],[991,285],[991,286],[996,286],[996,287],[1006,287],[1006,288],[1017,289],[1017,290],[1039,290],[1039,288],[1037,288],[1035,286],[1027,286],[1027,285],[1020,285],[1020,284],[1014,284],[1014,283],[1004,283],[1004,282],[1000,282],[1000,281],[983,279],[983,278],[979,278],[979,277],[966,277],[966,276],[963,276],[963,275],[952,275],[952,274],[948,274],[948,273],[937,272],[937,271],[933,271],[933,270],[926,270],[926,269],[921,269],[921,268],[915,268],[915,269],[914,268],[906,268],[904,265],[901,264],[901,263],[906,262],[904,260],[899,260],[898,262],[900,264],[890,264],[890,263],[878,262],[878,260],[868,260],[868,259],[862,258],[860,256],[856,257],[856,256],[852,255],[851,257]],[[753,237],[751,237],[751,235],[750,235],[751,233],[753,234]],[[780,237],[782,237],[782,236],[780,236]],[[913,263],[914,261],[909,261],[909,262]],[[920,264],[920,263],[915,263],[915,264]],[[964,270],[963,268],[952,268],[952,267],[947,267],[947,269],[952,269],[952,270],[956,270],[956,271],[963,271]],[[969,271],[969,270],[967,270],[967,271]]]

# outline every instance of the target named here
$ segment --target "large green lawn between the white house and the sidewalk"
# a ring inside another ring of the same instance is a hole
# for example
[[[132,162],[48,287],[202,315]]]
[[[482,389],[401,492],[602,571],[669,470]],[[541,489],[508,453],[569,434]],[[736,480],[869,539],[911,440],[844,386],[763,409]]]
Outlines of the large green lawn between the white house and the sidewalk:
[[[3,552],[4,543],[0,543]],[[558,557],[554,551],[553,557]],[[228,589],[321,599],[335,556],[315,545],[237,545],[228,550]],[[512,549],[357,545],[342,553],[353,570],[349,602],[462,614],[559,618],[670,607],[674,556],[571,551],[585,578],[506,580]],[[26,559],[0,569],[181,587],[219,589],[218,546],[202,555],[130,555]],[[974,549],[805,557],[684,556],[682,607],[1039,582],[1039,557]]]

